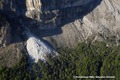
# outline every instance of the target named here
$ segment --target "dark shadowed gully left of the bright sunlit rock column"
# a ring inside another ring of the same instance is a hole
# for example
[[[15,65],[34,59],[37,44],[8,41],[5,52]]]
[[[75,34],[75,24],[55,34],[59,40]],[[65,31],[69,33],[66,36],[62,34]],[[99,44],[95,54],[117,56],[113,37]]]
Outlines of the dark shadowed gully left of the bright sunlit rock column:
[[[2,8],[0,7],[0,14],[6,16],[7,22],[11,26],[11,43],[23,42],[19,17],[21,14],[24,15],[27,11],[26,0],[4,0],[2,4],[3,6]]]

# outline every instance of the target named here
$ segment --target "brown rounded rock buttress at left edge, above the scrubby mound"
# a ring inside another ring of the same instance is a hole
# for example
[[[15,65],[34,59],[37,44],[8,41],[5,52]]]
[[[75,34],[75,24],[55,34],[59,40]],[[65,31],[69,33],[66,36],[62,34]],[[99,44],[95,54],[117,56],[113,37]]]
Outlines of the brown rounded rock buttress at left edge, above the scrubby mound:
[[[0,47],[11,43],[11,27],[6,17],[0,14]]]

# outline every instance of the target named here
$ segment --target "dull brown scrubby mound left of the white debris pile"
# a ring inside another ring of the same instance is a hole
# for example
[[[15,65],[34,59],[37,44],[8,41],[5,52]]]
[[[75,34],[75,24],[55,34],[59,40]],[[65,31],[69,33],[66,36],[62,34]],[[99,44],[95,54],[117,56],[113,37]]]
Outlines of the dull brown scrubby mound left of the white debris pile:
[[[0,48],[0,67],[13,67],[20,62],[23,54],[23,43],[14,43],[5,48]]]

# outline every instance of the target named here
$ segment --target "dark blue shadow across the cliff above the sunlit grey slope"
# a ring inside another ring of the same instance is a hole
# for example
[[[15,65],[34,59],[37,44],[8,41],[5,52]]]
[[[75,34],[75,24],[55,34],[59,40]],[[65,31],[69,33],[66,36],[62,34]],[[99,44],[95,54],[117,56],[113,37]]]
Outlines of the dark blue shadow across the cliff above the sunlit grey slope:
[[[51,7],[48,7],[48,6],[51,5],[52,0],[41,0],[41,2],[43,4],[43,6],[42,6],[43,13],[41,14],[42,22],[39,22],[39,21],[37,21],[37,22],[44,25],[46,21],[52,20],[54,17],[56,17],[55,23],[54,23],[55,25],[53,24],[53,26],[57,27],[57,28],[46,29],[46,30],[41,30],[41,31],[39,29],[36,29],[35,34],[38,34],[38,35],[40,34],[40,37],[47,37],[47,36],[61,34],[62,26],[64,26],[65,24],[71,23],[71,22],[75,21],[76,19],[81,19],[81,21],[82,21],[83,17],[85,15],[89,14],[90,12],[92,12],[98,5],[100,5],[101,1],[102,0],[93,0],[84,6],[83,5],[82,6],[72,6],[72,7],[66,7],[66,8],[55,7],[55,9],[54,8],[50,9]],[[56,0],[56,2],[57,2],[57,0]],[[56,6],[57,5],[58,4],[56,4]],[[59,5],[60,5],[60,3],[59,3]],[[53,11],[55,11],[55,10],[58,10],[57,16],[55,16],[55,14],[53,13]],[[46,14],[46,11],[49,11],[50,13]],[[51,24],[51,22],[47,23],[45,25],[49,26],[49,24]]]

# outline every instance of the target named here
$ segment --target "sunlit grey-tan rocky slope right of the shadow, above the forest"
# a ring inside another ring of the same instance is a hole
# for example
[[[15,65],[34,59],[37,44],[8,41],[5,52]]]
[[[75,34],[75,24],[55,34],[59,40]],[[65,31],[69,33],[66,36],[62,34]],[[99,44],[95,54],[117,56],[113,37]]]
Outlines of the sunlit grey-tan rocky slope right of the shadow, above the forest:
[[[120,42],[120,1],[102,0],[93,11],[66,23],[61,28],[61,34],[49,37],[48,40],[55,41],[61,46],[74,46],[78,42],[91,39],[94,41],[105,41],[108,45]],[[74,14],[76,15],[76,14]],[[47,31],[46,31],[47,32]],[[46,33],[45,32],[45,33]],[[43,32],[44,34],[44,32]]]

